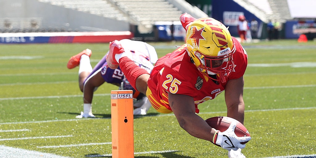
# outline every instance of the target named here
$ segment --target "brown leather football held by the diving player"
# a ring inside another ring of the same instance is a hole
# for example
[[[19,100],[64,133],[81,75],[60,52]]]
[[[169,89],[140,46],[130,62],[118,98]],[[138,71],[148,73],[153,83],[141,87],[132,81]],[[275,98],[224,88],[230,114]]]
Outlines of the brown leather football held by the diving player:
[[[218,116],[218,117],[212,117],[212,118],[206,119],[205,121],[211,127],[215,128],[216,130],[219,130],[221,132],[226,131],[228,129],[229,125],[233,121],[236,121],[237,122],[237,125],[235,128],[236,136],[238,136],[238,137],[249,136],[250,137],[250,134],[249,134],[248,130],[246,129],[246,127],[242,123],[237,121],[236,119],[233,119],[230,117],[225,117],[225,116]],[[247,142],[243,142],[242,144],[245,144]]]

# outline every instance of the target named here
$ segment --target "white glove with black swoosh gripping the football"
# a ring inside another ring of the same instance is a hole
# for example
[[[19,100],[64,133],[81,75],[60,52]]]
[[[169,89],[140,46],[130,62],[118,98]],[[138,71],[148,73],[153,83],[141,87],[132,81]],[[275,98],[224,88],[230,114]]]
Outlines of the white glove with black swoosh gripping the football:
[[[220,145],[223,149],[230,151],[231,149],[237,150],[238,148],[245,148],[246,144],[241,144],[242,142],[249,141],[251,137],[237,137],[235,134],[235,127],[237,123],[232,122],[228,129],[223,132],[218,132],[216,144]]]

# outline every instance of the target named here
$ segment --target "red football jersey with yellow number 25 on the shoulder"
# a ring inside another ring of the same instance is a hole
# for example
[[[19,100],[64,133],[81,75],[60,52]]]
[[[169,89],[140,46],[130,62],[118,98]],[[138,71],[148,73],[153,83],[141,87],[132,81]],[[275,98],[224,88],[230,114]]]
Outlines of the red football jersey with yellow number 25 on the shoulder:
[[[240,78],[245,73],[247,53],[235,38],[233,42],[236,46],[236,52],[232,57],[234,69],[229,76],[225,76],[224,83],[216,83],[200,73],[191,62],[185,45],[158,59],[148,80],[148,87],[152,94],[148,98],[153,107],[158,109],[160,106],[165,106],[171,112],[168,93],[185,94],[194,98],[196,113],[199,113],[198,104],[214,99],[224,91],[227,81]],[[227,62],[223,64],[227,65]]]

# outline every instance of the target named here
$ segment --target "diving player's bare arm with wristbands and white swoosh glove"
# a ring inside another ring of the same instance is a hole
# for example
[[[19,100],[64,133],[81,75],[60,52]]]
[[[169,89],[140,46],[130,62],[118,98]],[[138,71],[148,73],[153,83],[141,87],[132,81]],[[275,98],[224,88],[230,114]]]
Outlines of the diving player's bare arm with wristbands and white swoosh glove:
[[[194,100],[188,95],[169,93],[168,98],[169,105],[179,125],[194,137],[216,143],[227,150],[244,148],[245,145],[241,144],[241,142],[251,139],[251,137],[237,137],[234,133],[236,124],[231,124],[228,130],[223,132],[210,127],[204,119],[195,114]],[[216,136],[215,140],[213,140],[214,136]]]

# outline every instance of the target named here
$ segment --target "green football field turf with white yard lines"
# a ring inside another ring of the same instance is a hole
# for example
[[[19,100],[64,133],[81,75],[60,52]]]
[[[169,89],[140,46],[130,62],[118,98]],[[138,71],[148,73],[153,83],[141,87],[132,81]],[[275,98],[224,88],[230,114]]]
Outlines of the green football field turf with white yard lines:
[[[149,43],[158,57],[176,43]],[[243,44],[245,126],[252,136],[242,153],[247,158],[316,157],[316,43],[297,40]],[[110,92],[105,83],[95,92],[96,119],[76,119],[83,110],[78,68],[69,58],[92,50],[94,66],[108,44],[0,45],[0,158],[112,157]],[[226,116],[223,94],[199,105],[203,119]],[[219,158],[227,150],[192,137],[174,115],[151,108],[134,117],[137,158]]]

